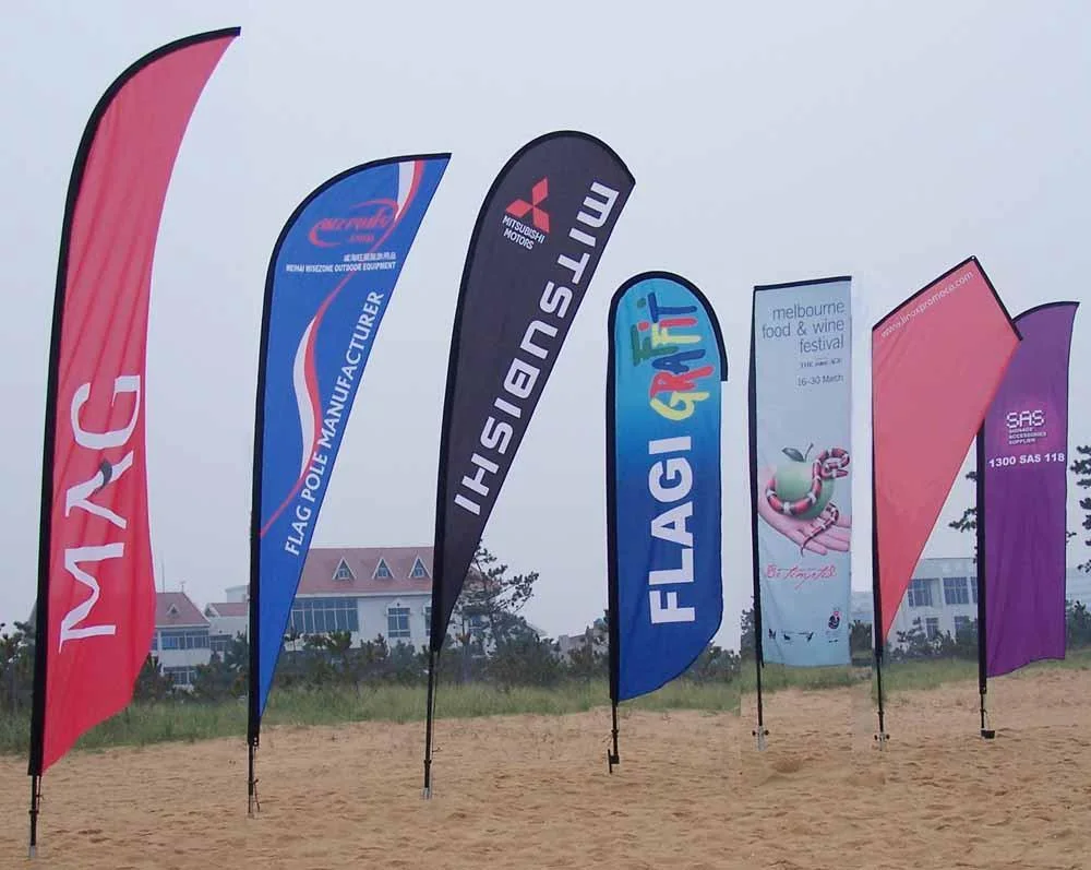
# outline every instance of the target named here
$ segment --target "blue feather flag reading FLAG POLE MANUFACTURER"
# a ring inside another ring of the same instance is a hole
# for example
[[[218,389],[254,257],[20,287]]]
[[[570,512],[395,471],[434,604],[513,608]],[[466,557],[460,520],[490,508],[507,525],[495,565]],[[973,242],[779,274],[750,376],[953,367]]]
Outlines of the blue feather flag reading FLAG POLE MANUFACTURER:
[[[449,156],[395,157],[329,179],[273,250],[254,434],[252,743],[352,401]]]

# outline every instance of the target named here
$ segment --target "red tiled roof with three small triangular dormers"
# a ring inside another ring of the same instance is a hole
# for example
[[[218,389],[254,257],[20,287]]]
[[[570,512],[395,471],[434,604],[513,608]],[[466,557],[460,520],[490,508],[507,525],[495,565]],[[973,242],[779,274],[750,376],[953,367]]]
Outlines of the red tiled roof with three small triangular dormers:
[[[428,576],[410,577],[417,559]],[[336,580],[341,561],[352,572],[350,580]],[[380,560],[391,576],[374,577]],[[431,547],[311,547],[303,564],[297,595],[364,595],[432,591]],[[374,577],[374,579],[373,579]]]

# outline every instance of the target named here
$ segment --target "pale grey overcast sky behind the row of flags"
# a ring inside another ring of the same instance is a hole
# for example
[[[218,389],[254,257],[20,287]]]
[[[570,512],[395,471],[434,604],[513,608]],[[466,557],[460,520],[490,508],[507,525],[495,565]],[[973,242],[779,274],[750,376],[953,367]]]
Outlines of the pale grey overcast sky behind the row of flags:
[[[192,33],[242,26],[197,104],[167,196],[146,407],[157,582],[184,583],[201,605],[248,576],[272,246],[308,192],[364,160],[453,153],[384,318],[315,544],[431,544],[458,279],[504,162],[533,136],[579,129],[636,176],[484,537],[514,569],[541,572],[528,617],[550,634],[578,631],[606,606],[606,319],[631,275],[685,275],[723,327],[719,640],[730,646],[752,583],[753,285],[853,276],[854,588],[871,583],[874,320],[971,254],[1012,314],[1089,299],[1082,0],[674,2],[666,13],[635,0],[96,0],[11,3],[3,19],[0,621],[25,618],[35,594],[49,324],[75,150],[110,82]],[[1089,317],[1076,321],[1071,444],[1091,442],[1078,400]],[[971,494],[957,487],[926,555],[970,552],[969,537],[945,526]]]

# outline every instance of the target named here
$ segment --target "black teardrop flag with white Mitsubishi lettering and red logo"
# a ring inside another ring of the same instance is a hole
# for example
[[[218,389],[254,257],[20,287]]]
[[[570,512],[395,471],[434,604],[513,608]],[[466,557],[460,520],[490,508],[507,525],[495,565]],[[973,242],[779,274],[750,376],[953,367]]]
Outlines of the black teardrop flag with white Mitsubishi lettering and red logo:
[[[496,496],[633,184],[601,140],[558,131],[508,159],[478,213],[452,327],[441,427],[433,652],[442,647]]]

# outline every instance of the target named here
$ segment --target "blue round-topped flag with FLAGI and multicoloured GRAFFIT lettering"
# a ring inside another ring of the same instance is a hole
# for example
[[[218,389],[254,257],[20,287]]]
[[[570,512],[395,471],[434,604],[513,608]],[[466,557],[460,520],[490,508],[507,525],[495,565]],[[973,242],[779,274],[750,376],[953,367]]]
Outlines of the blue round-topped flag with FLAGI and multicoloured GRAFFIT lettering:
[[[610,305],[610,693],[655,691],[720,628],[723,339],[685,278],[630,278]]]

